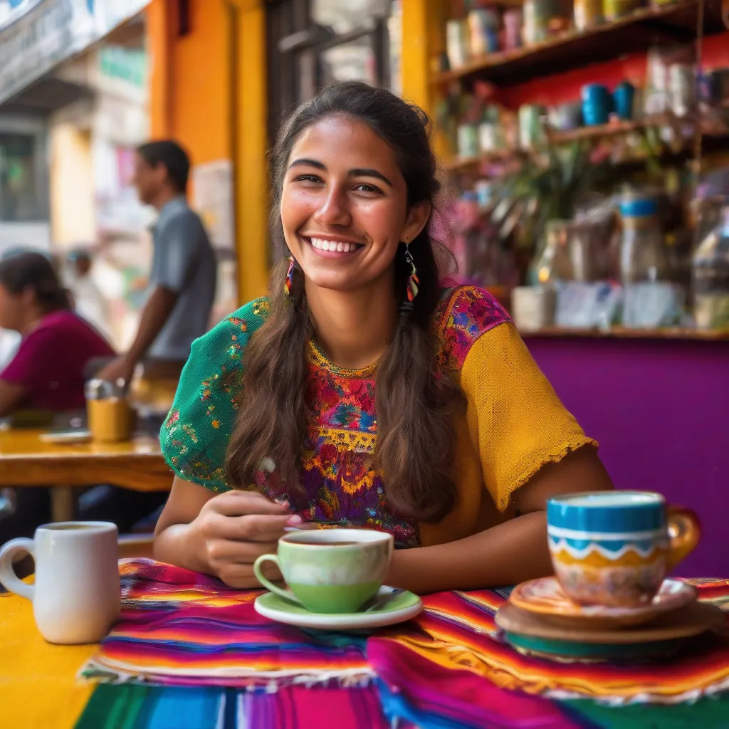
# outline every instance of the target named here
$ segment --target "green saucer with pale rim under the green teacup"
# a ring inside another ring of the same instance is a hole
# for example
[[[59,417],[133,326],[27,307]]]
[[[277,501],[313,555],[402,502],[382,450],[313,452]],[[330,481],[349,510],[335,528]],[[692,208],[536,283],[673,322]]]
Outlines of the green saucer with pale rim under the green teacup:
[[[378,598],[391,590],[383,585],[377,593]],[[410,620],[421,612],[423,603],[417,595],[404,592],[372,612],[323,613],[309,612],[295,602],[273,593],[264,593],[256,599],[254,607],[259,615],[278,623],[327,631],[359,631]]]

